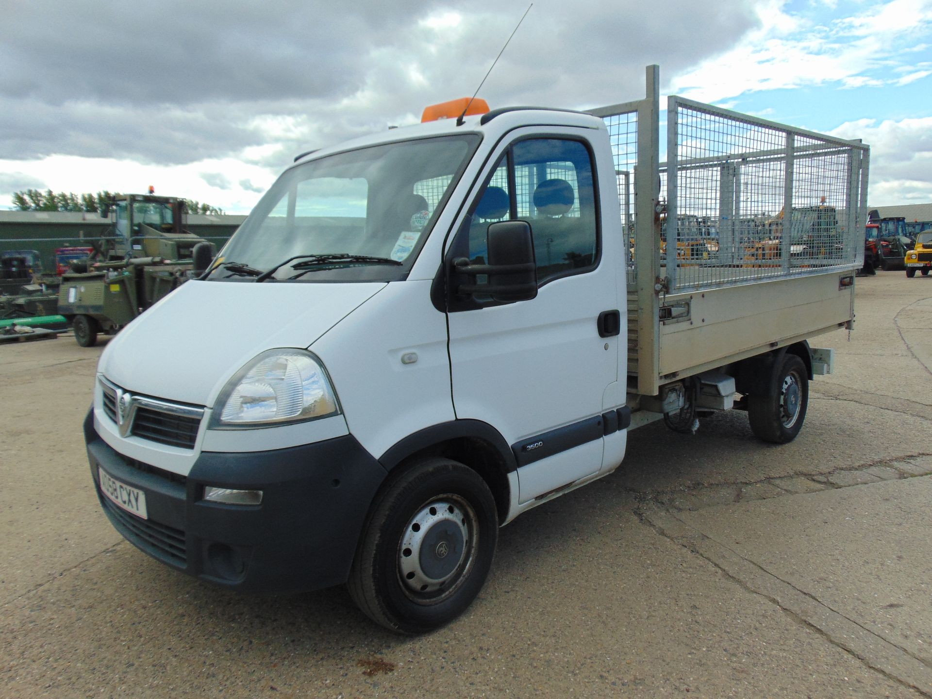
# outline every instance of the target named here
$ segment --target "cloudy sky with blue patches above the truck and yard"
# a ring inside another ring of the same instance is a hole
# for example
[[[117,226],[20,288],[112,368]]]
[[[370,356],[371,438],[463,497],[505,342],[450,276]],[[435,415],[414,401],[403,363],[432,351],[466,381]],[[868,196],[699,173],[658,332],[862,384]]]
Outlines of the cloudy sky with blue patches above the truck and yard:
[[[249,212],[297,153],[469,96],[509,0],[0,0],[0,207],[27,187]],[[932,201],[932,0],[535,0],[494,108],[680,94],[872,146],[871,205]]]

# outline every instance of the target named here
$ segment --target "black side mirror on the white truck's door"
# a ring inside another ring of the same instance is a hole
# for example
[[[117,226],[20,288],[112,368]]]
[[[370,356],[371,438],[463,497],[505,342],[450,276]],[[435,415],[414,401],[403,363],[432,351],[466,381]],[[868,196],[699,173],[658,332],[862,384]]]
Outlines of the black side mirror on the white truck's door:
[[[537,263],[534,238],[527,221],[500,221],[488,226],[488,264],[473,265],[465,257],[453,261],[459,274],[472,283],[460,284],[459,295],[491,295],[501,303],[528,301],[537,296]],[[487,283],[475,283],[486,275]]]

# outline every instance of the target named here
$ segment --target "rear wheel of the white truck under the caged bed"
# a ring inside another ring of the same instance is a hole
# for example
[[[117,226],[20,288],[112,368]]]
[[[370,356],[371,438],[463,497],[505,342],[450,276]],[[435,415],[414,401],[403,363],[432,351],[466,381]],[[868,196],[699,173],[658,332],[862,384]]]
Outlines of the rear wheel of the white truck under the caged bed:
[[[809,404],[809,377],[795,354],[786,354],[771,379],[769,395],[747,396],[751,432],[764,442],[792,442],[802,430]]]

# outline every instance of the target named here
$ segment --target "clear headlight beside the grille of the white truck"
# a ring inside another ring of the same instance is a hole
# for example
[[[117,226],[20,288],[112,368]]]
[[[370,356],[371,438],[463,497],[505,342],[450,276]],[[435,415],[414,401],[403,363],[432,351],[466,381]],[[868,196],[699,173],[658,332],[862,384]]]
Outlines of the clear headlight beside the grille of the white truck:
[[[210,427],[268,427],[339,412],[330,379],[313,354],[270,349],[243,366],[220,391]]]

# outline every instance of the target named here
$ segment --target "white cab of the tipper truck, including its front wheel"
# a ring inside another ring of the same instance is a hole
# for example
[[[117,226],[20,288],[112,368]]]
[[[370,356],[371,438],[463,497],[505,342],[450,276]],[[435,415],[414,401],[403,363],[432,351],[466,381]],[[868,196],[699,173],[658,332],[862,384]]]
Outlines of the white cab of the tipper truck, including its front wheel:
[[[501,523],[624,456],[615,191],[602,120],[567,112],[302,158],[104,350],[85,429],[105,512],[178,569],[274,592],[385,583],[385,552],[357,548],[377,495],[402,498],[392,526],[424,534],[391,543],[404,575],[372,615],[459,613]]]

